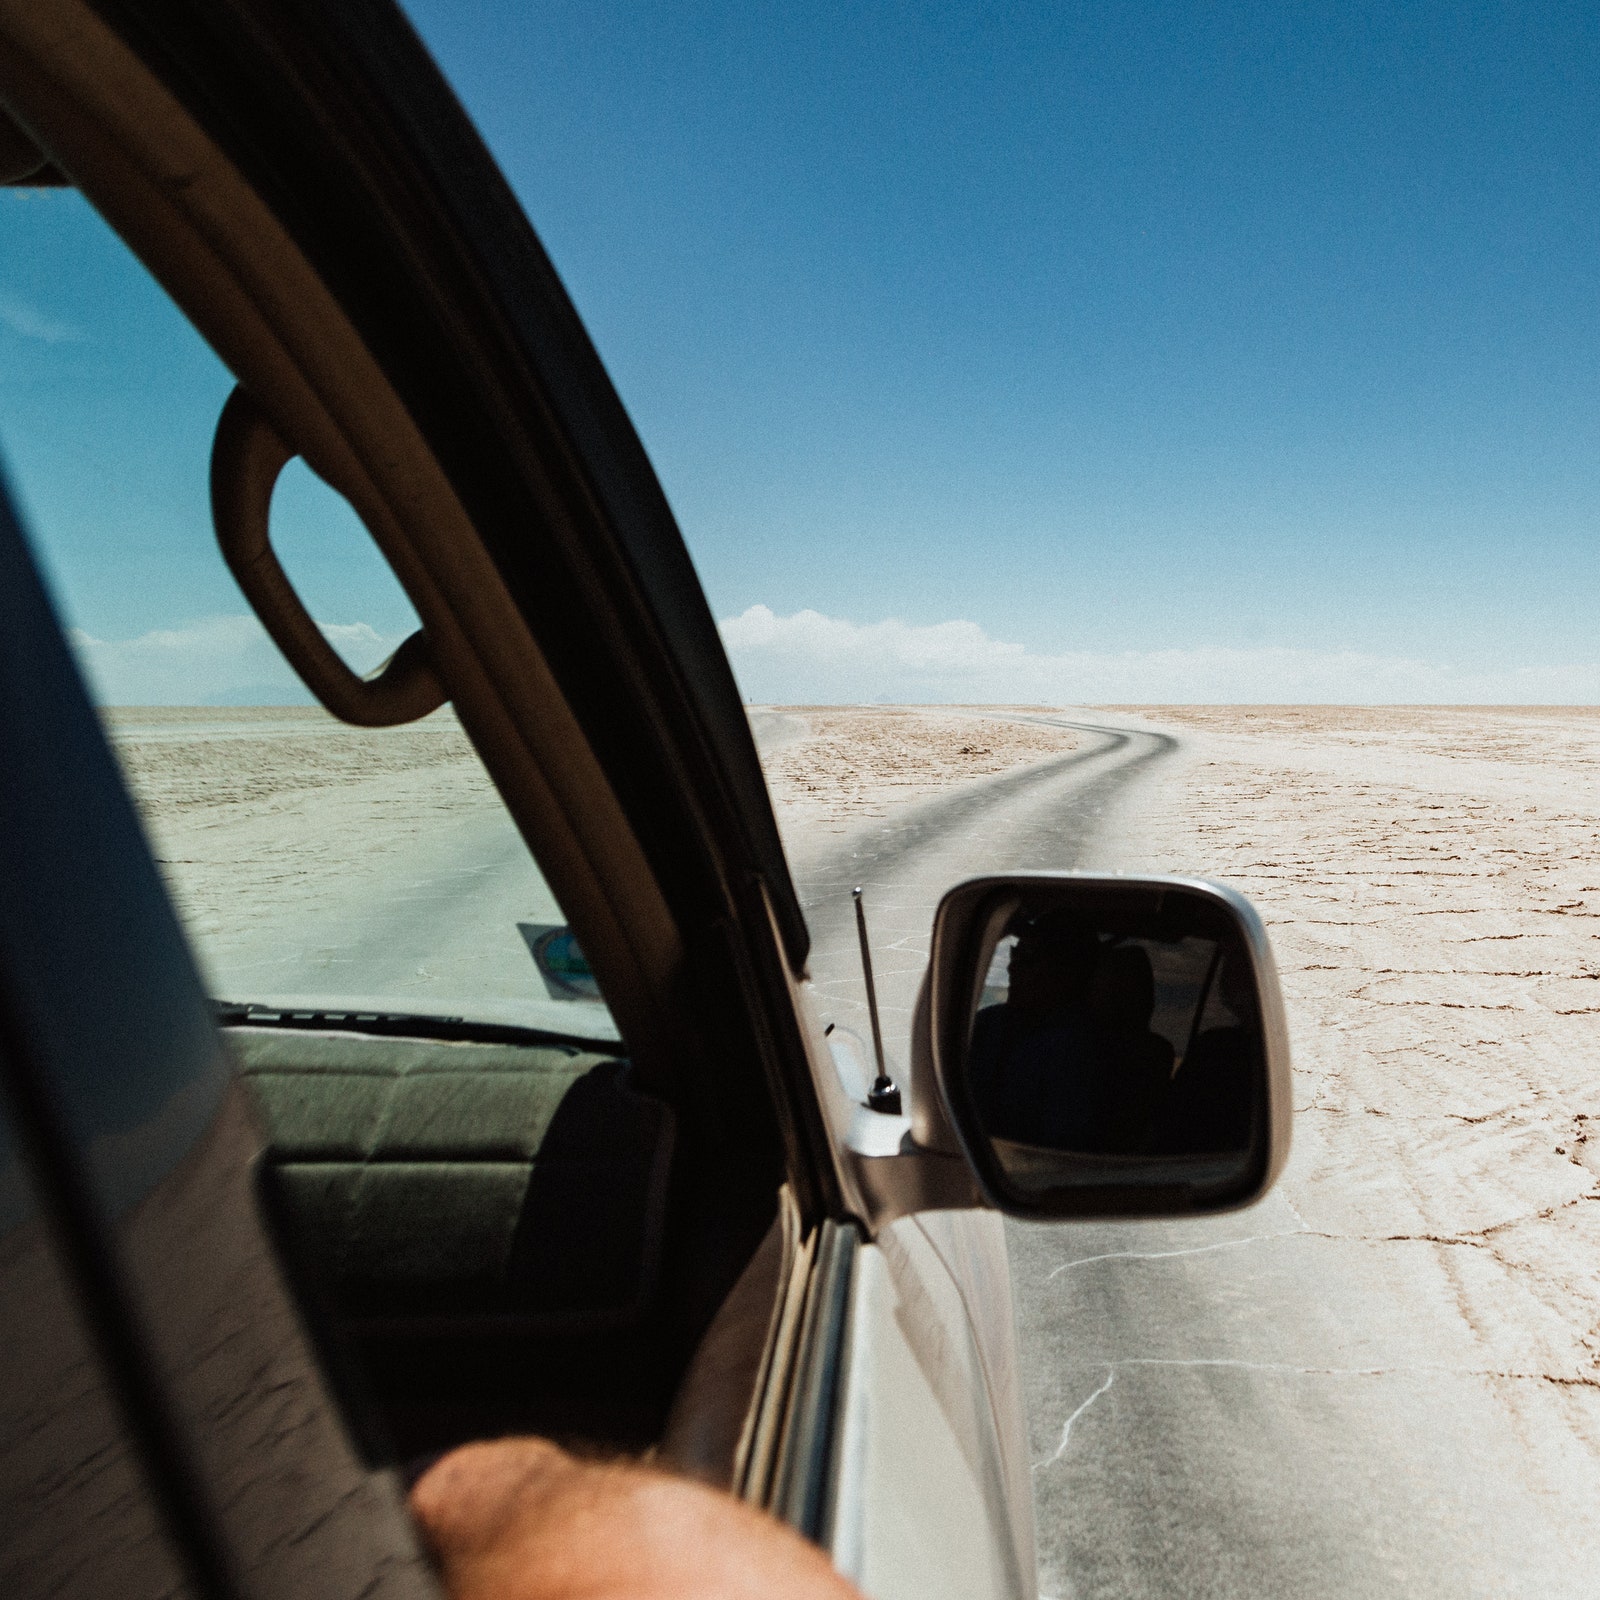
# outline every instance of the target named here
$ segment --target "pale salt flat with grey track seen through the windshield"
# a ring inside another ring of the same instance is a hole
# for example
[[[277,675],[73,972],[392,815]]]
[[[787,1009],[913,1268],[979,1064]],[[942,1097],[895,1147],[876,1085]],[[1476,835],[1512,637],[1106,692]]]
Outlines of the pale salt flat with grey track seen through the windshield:
[[[563,917],[448,712],[384,730],[298,707],[109,720],[213,994],[470,1000],[594,1032],[570,1005],[536,1014],[549,995],[523,930]]]

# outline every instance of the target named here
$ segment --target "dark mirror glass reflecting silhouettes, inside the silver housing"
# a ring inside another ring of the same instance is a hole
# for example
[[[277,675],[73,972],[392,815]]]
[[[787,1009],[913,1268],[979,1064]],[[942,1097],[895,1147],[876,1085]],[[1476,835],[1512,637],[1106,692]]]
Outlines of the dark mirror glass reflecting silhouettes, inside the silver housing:
[[[1256,968],[1227,906],[1042,885],[1000,898],[974,954],[963,1080],[1008,1187],[1243,1176],[1266,1067]]]

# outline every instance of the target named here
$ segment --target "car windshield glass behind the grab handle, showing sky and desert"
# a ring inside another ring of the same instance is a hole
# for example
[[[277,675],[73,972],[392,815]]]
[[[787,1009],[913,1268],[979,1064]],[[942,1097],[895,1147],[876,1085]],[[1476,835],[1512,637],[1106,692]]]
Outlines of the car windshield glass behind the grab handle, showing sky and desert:
[[[0,190],[0,443],[210,992],[614,1040],[566,917],[446,706],[352,728],[232,584],[206,502],[232,378],[72,190]],[[293,464],[274,544],[370,670],[416,616]],[[226,1013],[227,1014],[227,1013]]]

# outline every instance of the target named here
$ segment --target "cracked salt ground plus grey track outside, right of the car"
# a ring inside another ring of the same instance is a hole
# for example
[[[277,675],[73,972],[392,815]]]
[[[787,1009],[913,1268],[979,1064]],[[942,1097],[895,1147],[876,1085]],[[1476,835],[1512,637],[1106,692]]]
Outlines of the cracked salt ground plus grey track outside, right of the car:
[[[1296,1046],[1277,1192],[1010,1230],[1042,1592],[1600,1592],[1600,715],[1144,718],[1182,747],[1120,795],[1096,792],[1091,714],[1054,778],[989,808],[864,784],[880,814],[850,826],[773,784],[842,1019],[851,875],[901,1032],[933,904],[971,872],[1203,872],[1272,926]]]

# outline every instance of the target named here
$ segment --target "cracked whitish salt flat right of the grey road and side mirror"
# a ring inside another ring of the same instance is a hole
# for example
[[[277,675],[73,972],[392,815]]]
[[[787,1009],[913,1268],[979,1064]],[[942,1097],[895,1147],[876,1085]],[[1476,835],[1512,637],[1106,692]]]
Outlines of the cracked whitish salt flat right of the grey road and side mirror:
[[[1600,1443],[1600,712],[1142,715],[1195,736],[1122,850],[1267,918],[1307,1229],[1443,1272]]]

